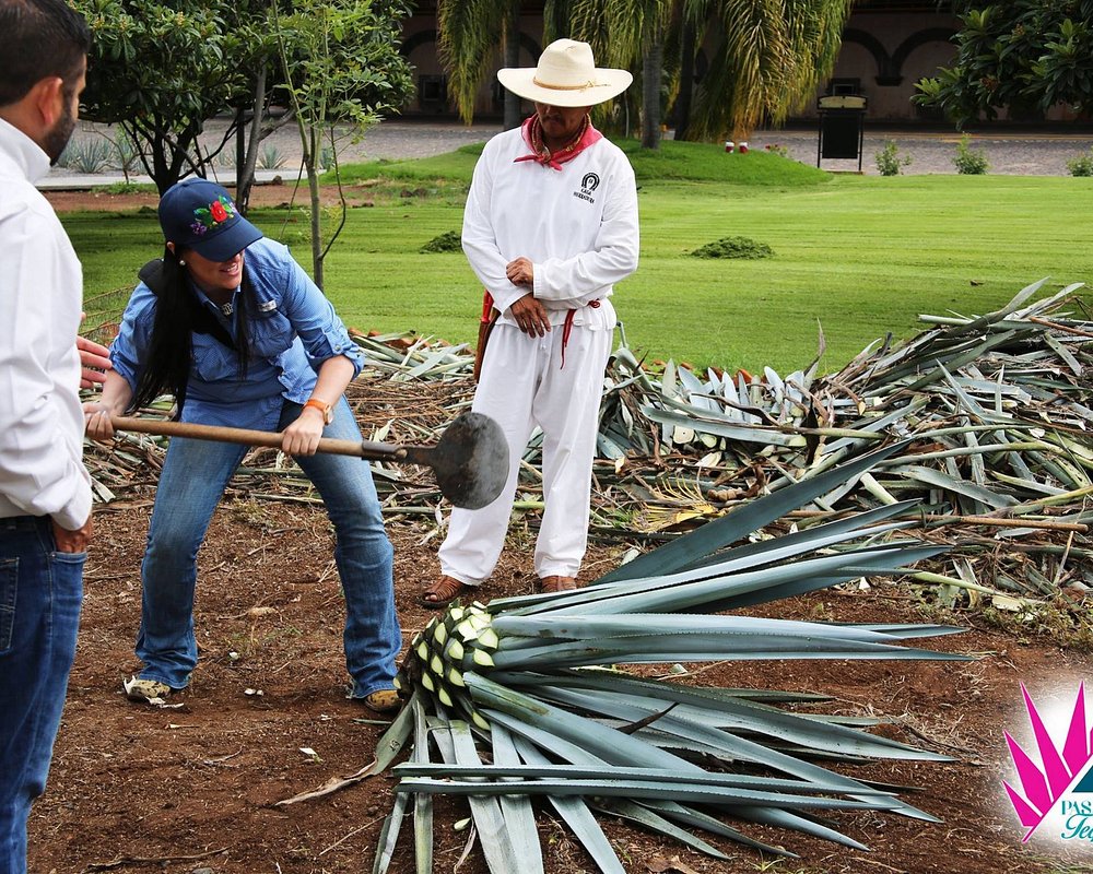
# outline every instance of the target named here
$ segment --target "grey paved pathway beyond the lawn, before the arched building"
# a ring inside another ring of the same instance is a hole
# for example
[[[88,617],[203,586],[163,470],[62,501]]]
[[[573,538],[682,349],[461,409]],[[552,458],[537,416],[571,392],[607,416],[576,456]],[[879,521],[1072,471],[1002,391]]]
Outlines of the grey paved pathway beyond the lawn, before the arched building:
[[[213,142],[224,122],[209,125],[205,139]],[[104,127],[81,122],[75,138],[101,137]],[[483,142],[498,132],[498,126],[473,125],[466,127],[458,122],[428,121],[383,121],[372,128],[360,143],[345,141],[341,145],[342,157],[348,161],[396,160],[428,157],[450,152],[460,145]],[[107,133],[109,135],[109,133]],[[764,149],[779,145],[790,157],[815,166],[818,131],[815,128],[800,128],[783,131],[761,131],[752,135],[749,147]],[[954,131],[908,131],[885,130],[871,127],[867,122],[861,169],[877,175],[877,153],[888,142],[894,142],[900,155],[909,156],[912,163],[903,173],[954,174],[953,156],[961,135]],[[295,128],[286,127],[263,143],[263,149],[275,150],[285,161],[280,170],[260,170],[259,179],[265,181],[275,175],[292,174],[299,161],[299,140]],[[1067,161],[1093,147],[1093,134],[1059,133],[979,133],[972,137],[972,147],[982,149],[989,163],[988,173],[1020,176],[1066,176]],[[850,170],[858,168],[856,161],[823,161],[828,170]],[[222,182],[234,180],[234,170],[222,168],[218,178]],[[56,167],[44,180],[43,188],[89,188],[118,180],[117,174],[83,175],[71,169]],[[146,177],[136,177],[134,181],[148,181]]]

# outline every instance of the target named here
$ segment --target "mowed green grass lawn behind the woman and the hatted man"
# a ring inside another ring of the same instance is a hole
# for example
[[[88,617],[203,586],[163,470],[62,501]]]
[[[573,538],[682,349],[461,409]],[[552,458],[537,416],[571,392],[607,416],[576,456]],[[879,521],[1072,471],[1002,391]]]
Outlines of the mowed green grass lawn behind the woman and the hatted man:
[[[837,369],[888,332],[916,333],[918,314],[984,312],[1044,276],[1050,288],[1093,283],[1093,179],[830,176],[766,153],[665,146],[649,155],[625,144],[642,263],[614,297],[630,345],[651,358],[786,371],[813,357],[822,326],[824,367]],[[458,231],[479,149],[345,168],[354,209],[327,262],[327,293],[348,323],[474,339],[481,288],[462,255],[419,249]],[[309,265],[302,214],[251,217]],[[63,221],[89,298],[128,285],[161,247],[154,216]],[[689,255],[726,236],[765,243],[774,257]]]

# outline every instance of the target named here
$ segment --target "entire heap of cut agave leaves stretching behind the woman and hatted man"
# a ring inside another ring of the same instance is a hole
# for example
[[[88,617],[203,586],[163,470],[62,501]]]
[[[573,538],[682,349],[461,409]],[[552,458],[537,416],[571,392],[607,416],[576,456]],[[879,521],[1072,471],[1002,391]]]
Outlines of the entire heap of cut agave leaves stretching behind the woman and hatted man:
[[[591,539],[665,542],[870,447],[909,439],[791,521],[804,528],[917,500],[917,529],[949,546],[915,576],[931,595],[1025,616],[1060,593],[1081,601],[1093,587],[1093,320],[1072,315],[1082,309],[1078,287],[1043,295],[1038,282],[984,316],[922,316],[931,328],[905,343],[878,341],[825,376],[820,355],[785,377],[712,368],[702,378],[671,362],[655,374],[624,342],[604,383]],[[355,339],[369,365],[348,393],[371,439],[434,442],[470,405],[466,346],[407,334]],[[139,493],[150,491],[163,442],[89,442],[97,498],[149,499]],[[443,503],[427,470],[373,469],[389,520],[432,525],[423,542],[440,533]],[[238,473],[237,497],[319,500],[275,450],[249,454]],[[530,527],[541,481],[533,437],[516,505]]]

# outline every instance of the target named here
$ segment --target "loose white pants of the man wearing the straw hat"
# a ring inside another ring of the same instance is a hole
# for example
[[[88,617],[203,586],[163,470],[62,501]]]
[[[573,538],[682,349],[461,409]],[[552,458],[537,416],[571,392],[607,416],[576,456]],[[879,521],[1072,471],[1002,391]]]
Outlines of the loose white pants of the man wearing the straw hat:
[[[543,432],[543,510],[536,542],[539,577],[576,577],[588,543],[592,458],[611,330],[574,326],[562,367],[562,326],[528,336],[494,326],[472,409],[492,416],[508,441],[508,482],[480,510],[453,509],[440,546],[440,572],[477,586],[505,545],[520,459],[536,425]]]

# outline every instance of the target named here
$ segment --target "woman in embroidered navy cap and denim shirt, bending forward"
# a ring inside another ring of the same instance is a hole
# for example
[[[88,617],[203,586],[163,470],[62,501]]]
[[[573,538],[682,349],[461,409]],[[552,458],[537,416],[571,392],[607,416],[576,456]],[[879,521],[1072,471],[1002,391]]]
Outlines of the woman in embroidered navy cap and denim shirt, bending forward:
[[[320,437],[360,440],[343,397],[363,356],[319,288],[289,253],[244,218],[227,191],[186,179],[160,201],[162,261],[141,271],[102,398],[84,404],[87,434],[113,437],[111,415],[175,397],[176,417],[278,430],[333,523],[345,594],[350,697],[398,708],[392,555],[368,465],[316,454]],[[197,553],[246,448],[175,437],[160,475],[148,547],[137,656],[125,682],[137,701],[185,688],[198,660],[193,635]]]

